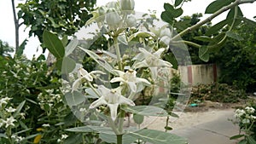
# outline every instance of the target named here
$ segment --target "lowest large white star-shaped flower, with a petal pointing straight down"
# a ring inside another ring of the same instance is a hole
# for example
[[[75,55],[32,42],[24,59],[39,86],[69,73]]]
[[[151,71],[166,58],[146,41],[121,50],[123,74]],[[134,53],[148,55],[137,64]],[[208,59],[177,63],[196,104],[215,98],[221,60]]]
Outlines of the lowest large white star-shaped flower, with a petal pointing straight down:
[[[90,104],[90,109],[96,108],[102,105],[107,105],[110,109],[110,116],[113,120],[117,117],[117,111],[119,105],[126,104],[129,106],[135,106],[135,103],[125,96],[121,95],[120,89],[108,89],[103,85],[98,86],[98,91],[101,97]]]

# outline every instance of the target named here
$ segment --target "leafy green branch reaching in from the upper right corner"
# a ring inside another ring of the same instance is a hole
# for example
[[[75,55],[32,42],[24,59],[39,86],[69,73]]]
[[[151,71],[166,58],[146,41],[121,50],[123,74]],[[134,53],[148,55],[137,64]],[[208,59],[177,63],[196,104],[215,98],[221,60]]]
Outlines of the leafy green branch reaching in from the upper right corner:
[[[198,53],[201,60],[208,61],[210,58],[210,54],[218,51],[224,46],[227,38],[235,38],[239,37],[239,34],[233,32],[232,30],[241,23],[241,21],[250,21],[245,18],[241,12],[239,5],[243,3],[254,3],[255,0],[227,0],[220,1],[216,0],[210,3],[207,6],[205,11],[206,14],[212,14],[205,20],[201,20],[197,24],[193,26],[186,26],[186,28],[179,32],[176,36],[170,39],[171,43],[175,42],[178,37],[184,37],[190,32],[195,31],[199,27],[207,24],[212,19],[217,17],[219,14],[224,13],[225,11],[229,11],[225,20],[220,21],[218,24],[211,26],[205,35],[201,35],[200,37],[196,37],[197,40],[202,42],[206,42],[207,44],[198,44],[193,42],[182,41],[182,43],[187,43],[193,45],[196,48],[199,48]],[[168,22],[171,26],[176,26],[177,18],[183,14],[183,9],[181,8],[183,0],[176,0],[172,5],[170,3],[165,3],[164,8],[165,11],[161,14],[162,20]],[[230,26],[226,32],[219,32],[224,26]],[[254,24],[255,26],[255,24]],[[216,32],[219,32],[216,35]],[[177,42],[175,42],[177,43]]]

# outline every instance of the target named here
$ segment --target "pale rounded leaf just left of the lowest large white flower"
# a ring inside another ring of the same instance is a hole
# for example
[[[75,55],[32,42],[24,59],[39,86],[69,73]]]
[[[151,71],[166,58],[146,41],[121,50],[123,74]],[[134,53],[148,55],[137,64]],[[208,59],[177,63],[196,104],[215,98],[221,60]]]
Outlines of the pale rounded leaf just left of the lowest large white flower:
[[[65,94],[65,98],[68,106],[77,106],[85,101],[84,95],[79,93],[78,91],[73,91],[73,93],[69,92]]]

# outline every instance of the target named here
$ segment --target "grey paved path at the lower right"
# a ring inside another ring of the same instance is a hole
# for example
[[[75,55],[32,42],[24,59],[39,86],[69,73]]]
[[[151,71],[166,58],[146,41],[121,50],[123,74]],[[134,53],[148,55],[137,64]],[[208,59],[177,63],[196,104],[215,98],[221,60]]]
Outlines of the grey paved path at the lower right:
[[[231,136],[239,132],[239,127],[228,120],[234,118],[233,114],[233,110],[224,111],[210,122],[171,132],[187,138],[189,144],[236,144],[237,141],[230,140]]]

